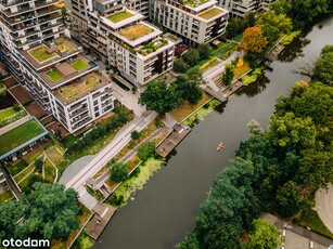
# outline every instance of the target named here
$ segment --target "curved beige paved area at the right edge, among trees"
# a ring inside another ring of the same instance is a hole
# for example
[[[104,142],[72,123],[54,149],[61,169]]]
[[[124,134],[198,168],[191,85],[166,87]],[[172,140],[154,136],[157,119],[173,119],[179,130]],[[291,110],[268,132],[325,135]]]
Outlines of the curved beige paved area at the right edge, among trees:
[[[316,193],[316,211],[325,224],[325,226],[333,233],[333,185],[329,189],[320,189]]]

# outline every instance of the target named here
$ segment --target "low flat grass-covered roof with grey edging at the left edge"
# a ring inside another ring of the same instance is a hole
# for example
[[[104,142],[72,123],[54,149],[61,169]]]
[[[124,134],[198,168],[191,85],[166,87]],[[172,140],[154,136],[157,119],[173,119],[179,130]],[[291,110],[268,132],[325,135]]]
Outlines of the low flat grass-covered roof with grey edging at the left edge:
[[[0,160],[11,156],[35,141],[49,134],[46,128],[36,119],[20,124],[0,135]]]

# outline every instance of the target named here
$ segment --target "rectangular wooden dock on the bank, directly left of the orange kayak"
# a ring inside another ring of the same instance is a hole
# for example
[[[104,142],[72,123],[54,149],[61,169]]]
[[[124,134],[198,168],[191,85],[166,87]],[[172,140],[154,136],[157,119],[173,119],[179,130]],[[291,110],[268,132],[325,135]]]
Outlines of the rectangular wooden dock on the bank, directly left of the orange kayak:
[[[191,129],[189,127],[176,123],[172,133],[155,149],[155,152],[162,157],[167,157],[190,132]]]

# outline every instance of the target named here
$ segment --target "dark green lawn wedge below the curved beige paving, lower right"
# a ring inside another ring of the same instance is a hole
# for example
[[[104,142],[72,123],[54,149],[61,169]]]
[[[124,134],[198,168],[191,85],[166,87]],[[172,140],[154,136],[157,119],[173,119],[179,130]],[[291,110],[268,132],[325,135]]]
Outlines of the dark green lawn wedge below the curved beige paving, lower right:
[[[299,225],[310,227],[311,231],[333,239],[333,234],[322,223],[318,213],[315,210],[309,210],[303,214]]]

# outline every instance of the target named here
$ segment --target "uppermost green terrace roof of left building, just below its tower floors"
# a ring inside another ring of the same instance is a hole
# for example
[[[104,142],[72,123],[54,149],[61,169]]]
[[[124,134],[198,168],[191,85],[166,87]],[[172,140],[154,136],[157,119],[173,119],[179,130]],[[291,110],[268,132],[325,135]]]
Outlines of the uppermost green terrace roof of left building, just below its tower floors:
[[[36,68],[41,69],[82,50],[68,38],[59,38],[54,43],[53,47],[48,47],[46,43],[38,44],[28,50],[21,50],[21,53]]]

